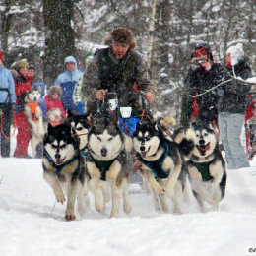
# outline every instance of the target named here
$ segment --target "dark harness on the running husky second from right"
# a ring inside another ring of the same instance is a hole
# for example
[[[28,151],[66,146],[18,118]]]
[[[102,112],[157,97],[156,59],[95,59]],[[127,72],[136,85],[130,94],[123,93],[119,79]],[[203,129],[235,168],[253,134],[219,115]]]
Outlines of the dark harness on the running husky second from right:
[[[151,169],[156,179],[165,179],[169,176],[169,172],[165,171],[162,168],[163,161],[166,159],[169,153],[169,146],[167,143],[165,144],[164,151],[165,153],[161,155],[160,159],[155,161],[143,160],[141,155],[138,156],[139,161],[141,161],[144,165]]]

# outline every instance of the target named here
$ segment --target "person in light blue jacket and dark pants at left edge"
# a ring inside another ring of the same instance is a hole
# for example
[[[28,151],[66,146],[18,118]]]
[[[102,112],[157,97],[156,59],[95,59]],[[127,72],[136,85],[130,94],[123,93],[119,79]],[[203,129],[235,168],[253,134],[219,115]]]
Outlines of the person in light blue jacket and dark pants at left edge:
[[[0,51],[0,140],[1,156],[10,157],[10,129],[12,109],[16,101],[15,85],[11,72],[3,65],[3,53]]]

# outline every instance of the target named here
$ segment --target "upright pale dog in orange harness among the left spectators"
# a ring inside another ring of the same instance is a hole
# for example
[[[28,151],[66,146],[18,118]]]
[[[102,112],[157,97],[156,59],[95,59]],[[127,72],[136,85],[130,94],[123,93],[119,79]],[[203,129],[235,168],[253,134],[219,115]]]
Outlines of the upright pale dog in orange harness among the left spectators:
[[[24,113],[27,117],[28,122],[32,126],[32,157],[36,156],[36,147],[39,143],[42,143],[43,136],[45,134],[45,127],[43,124],[42,111],[38,105],[38,100],[41,96],[41,88],[31,88],[25,96]],[[35,104],[35,112],[32,113],[30,104]]]

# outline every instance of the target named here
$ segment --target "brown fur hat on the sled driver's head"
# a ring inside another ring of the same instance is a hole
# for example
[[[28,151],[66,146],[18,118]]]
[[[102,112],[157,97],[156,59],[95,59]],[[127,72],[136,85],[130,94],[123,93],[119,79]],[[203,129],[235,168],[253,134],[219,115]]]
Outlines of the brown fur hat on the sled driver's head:
[[[106,45],[110,45],[113,41],[128,44],[130,49],[135,49],[137,47],[137,42],[133,32],[124,27],[116,27],[108,33],[104,39],[104,43]]]

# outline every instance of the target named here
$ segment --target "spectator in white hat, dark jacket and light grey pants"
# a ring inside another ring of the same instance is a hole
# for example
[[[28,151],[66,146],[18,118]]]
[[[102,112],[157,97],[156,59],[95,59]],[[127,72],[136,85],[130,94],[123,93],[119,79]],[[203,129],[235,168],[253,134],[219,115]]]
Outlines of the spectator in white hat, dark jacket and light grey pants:
[[[228,74],[243,80],[251,77],[249,59],[244,55],[241,43],[227,49],[225,66],[227,70],[225,80],[230,79]],[[250,166],[240,141],[240,135],[244,125],[246,95],[249,93],[250,88],[250,85],[242,85],[236,80],[232,80],[218,90],[220,95],[220,136],[224,144],[225,160],[229,169]]]

